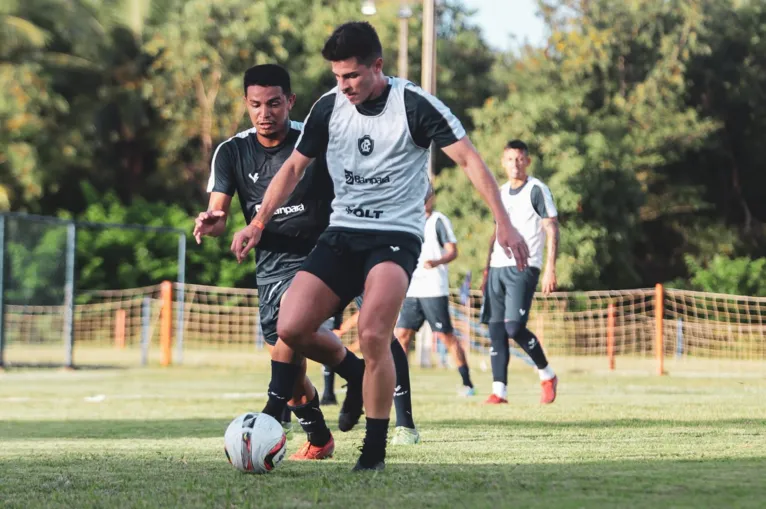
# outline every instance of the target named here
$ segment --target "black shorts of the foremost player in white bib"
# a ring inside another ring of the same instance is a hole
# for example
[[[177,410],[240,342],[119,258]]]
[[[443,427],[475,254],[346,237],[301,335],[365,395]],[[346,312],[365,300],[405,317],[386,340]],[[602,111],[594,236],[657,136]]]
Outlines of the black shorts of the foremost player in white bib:
[[[410,280],[420,247],[420,238],[410,233],[328,228],[301,270],[321,279],[340,298],[340,309],[344,309],[362,294],[367,274],[380,263],[396,263]]]

